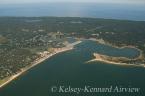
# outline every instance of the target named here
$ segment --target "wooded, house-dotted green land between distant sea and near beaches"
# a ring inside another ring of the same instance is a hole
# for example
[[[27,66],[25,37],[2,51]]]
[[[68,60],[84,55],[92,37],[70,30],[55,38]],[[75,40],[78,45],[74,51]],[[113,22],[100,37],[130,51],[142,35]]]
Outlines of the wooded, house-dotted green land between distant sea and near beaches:
[[[0,79],[29,65],[37,58],[37,52],[62,47],[65,37],[103,39],[116,46],[133,45],[145,54],[144,21],[0,17]]]

